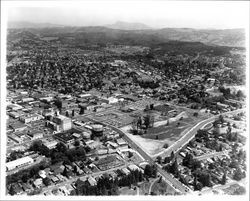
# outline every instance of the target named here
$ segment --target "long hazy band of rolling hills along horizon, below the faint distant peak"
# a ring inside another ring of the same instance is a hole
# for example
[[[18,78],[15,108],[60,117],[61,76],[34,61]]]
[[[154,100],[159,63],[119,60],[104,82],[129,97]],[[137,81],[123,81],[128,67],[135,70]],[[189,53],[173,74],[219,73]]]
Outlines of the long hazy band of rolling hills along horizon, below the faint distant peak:
[[[35,23],[33,23],[35,24]],[[136,23],[133,24],[133,26]],[[21,25],[24,25],[21,24]],[[113,29],[107,26],[63,26],[50,23],[42,23],[25,29],[39,28],[45,35],[59,33],[103,33],[114,38],[123,35],[140,35],[141,37],[158,38],[164,41],[176,40],[187,42],[201,42],[207,45],[219,45],[229,47],[245,47],[244,29],[194,29],[194,28],[161,28],[161,29]],[[21,26],[19,26],[21,27]],[[9,27],[10,29],[13,26]],[[130,27],[131,28],[131,27]],[[19,28],[22,29],[22,28]]]

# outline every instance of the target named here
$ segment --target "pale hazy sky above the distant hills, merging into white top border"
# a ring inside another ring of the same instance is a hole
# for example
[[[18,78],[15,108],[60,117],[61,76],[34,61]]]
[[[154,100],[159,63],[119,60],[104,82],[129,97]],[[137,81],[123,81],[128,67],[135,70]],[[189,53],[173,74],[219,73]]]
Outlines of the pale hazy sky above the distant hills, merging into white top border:
[[[59,3],[60,2],[60,3]],[[249,2],[243,1],[42,1],[10,2],[8,21],[70,26],[96,26],[116,21],[152,28],[243,28],[249,23]]]

